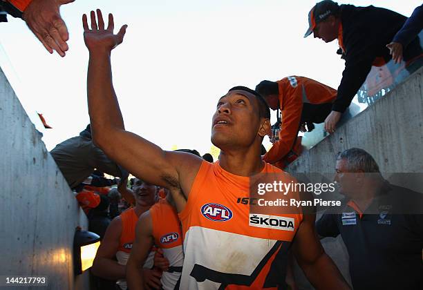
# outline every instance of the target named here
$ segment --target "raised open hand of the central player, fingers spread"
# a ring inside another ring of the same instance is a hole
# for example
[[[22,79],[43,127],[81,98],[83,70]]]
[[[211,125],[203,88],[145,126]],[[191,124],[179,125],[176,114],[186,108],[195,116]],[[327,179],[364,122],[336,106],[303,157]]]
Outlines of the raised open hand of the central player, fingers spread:
[[[113,14],[109,13],[109,25],[104,29],[104,21],[102,11],[97,9],[97,19],[95,20],[95,12],[91,11],[91,29],[88,27],[86,14],[82,15],[82,26],[84,27],[84,41],[90,52],[96,50],[106,50],[110,52],[113,48],[122,43],[126,28],[126,24],[122,26],[117,35],[113,34],[115,23],[113,22]]]

